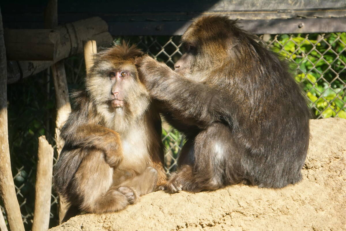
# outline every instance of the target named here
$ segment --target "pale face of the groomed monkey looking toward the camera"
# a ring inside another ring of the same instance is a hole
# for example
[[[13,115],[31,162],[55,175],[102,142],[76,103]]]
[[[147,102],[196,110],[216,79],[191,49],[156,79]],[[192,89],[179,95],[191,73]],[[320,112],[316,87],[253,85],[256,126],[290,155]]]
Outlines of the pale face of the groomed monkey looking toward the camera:
[[[86,78],[86,89],[95,103],[108,105],[115,110],[124,107],[131,109],[138,99],[148,97],[132,60],[96,61]]]

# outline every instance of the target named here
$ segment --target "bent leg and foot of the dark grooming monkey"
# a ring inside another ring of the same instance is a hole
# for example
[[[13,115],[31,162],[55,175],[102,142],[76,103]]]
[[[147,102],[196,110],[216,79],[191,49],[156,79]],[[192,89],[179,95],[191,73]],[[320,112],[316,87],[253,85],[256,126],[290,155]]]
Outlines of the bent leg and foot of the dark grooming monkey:
[[[200,192],[216,190],[224,185],[226,161],[235,161],[234,144],[230,128],[222,123],[213,123],[201,131],[193,141],[190,150],[184,150],[181,166],[166,184],[170,192],[186,190]],[[181,158],[179,157],[179,158]]]

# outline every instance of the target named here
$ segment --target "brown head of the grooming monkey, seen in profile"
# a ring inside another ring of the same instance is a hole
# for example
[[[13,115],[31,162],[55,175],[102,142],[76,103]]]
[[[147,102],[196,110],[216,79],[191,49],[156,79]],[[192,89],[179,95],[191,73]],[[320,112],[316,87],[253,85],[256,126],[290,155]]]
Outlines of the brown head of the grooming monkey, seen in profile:
[[[236,20],[227,16],[204,16],[195,20],[182,36],[186,52],[175,63],[175,71],[181,75],[203,81],[203,74],[224,70],[233,48],[245,33],[237,26]],[[229,62],[228,62],[229,63]],[[212,73],[211,73],[212,74]]]

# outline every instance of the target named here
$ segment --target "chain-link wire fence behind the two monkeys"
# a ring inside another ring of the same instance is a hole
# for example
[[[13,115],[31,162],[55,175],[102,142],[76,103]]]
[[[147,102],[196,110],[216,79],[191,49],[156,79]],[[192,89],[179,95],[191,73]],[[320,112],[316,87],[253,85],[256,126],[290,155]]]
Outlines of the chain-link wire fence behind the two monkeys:
[[[346,118],[346,33],[259,35],[271,49],[289,58],[297,72],[316,118]],[[180,36],[118,37],[137,44],[145,52],[170,67],[182,55]],[[82,56],[65,60],[69,88],[80,89],[85,76]],[[55,148],[55,91],[47,71],[8,85],[8,123],[12,174],[26,230],[30,230],[34,211],[34,183],[37,144],[46,135]],[[184,144],[183,136],[163,123],[162,141],[166,147],[165,169],[176,168]],[[56,155],[55,155],[56,156]],[[54,159],[56,161],[56,159]],[[52,192],[50,227],[58,224],[58,198]],[[2,201],[0,201],[1,209]],[[6,215],[4,214],[5,219]]]

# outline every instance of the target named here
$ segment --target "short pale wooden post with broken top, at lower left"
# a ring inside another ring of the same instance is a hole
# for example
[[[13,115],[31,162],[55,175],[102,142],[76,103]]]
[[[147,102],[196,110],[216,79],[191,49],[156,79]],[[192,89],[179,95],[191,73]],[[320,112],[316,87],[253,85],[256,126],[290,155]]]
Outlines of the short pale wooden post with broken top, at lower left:
[[[38,138],[38,160],[35,183],[35,211],[32,231],[46,231],[49,228],[51,211],[52,172],[54,150],[45,136]]]

